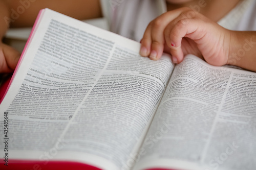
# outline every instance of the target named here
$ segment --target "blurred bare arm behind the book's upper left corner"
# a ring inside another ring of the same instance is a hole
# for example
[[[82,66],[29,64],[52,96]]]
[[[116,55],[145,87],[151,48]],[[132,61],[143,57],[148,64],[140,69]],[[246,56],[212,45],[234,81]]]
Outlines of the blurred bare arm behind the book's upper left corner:
[[[20,2],[25,2],[21,4]],[[25,6],[25,11],[19,14],[11,22],[11,27],[32,27],[38,12],[44,8],[50,8],[54,11],[83,20],[101,17],[101,8],[99,0],[10,0],[10,8],[14,11],[20,6]]]

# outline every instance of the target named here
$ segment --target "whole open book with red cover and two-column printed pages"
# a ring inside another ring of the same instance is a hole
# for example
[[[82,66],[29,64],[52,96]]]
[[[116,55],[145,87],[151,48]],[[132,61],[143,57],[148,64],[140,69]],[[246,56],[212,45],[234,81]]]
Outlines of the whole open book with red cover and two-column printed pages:
[[[256,73],[139,48],[41,10],[0,105],[0,168],[254,169]]]

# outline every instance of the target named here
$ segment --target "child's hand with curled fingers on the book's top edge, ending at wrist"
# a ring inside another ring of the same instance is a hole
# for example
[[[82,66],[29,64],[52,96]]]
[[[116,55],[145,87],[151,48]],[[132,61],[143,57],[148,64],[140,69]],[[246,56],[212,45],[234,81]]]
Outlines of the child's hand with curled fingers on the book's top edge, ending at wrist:
[[[148,25],[141,40],[141,56],[158,60],[163,51],[180,63],[194,54],[212,65],[227,64],[231,31],[190,8],[166,12]]]

